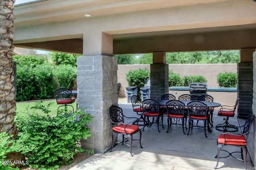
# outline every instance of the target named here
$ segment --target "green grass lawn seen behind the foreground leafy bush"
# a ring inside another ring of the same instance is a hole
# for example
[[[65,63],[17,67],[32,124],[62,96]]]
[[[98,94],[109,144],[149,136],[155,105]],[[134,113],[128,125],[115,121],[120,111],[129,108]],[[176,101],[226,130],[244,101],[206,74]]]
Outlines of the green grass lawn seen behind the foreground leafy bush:
[[[50,115],[55,115],[57,114],[57,109],[59,106],[61,105],[57,105],[56,104],[56,100],[48,100],[48,101],[43,101],[43,104],[45,106],[47,106],[50,102],[53,102],[53,104],[49,107],[49,109],[51,110],[51,112],[49,113]],[[25,111],[26,107],[32,107],[35,105],[35,102],[17,102],[16,103],[16,112],[17,111]],[[76,109],[76,102],[74,102],[73,104],[71,104],[74,107],[74,110]],[[64,109],[64,107],[60,107],[60,109]],[[68,106],[68,110],[71,110],[72,107]],[[41,110],[38,110],[38,113],[43,113]]]

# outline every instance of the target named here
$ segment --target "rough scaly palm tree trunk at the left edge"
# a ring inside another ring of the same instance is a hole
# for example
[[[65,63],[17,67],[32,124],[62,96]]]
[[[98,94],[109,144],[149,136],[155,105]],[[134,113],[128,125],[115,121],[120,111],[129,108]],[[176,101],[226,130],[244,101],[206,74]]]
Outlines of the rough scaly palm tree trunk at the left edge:
[[[12,84],[14,81],[12,75],[14,3],[15,0],[0,0],[0,132],[16,135],[14,125],[16,101]],[[8,153],[7,157],[9,160],[25,159],[20,152]]]

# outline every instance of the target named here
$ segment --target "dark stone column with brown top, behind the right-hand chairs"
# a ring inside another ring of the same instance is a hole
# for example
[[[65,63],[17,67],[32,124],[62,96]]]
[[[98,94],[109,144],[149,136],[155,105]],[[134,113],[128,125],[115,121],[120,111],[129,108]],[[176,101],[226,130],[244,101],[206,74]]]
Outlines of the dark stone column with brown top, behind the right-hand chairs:
[[[255,49],[240,49],[240,63],[237,64],[238,72],[238,117],[246,118],[252,114],[252,88],[253,66],[252,53]]]

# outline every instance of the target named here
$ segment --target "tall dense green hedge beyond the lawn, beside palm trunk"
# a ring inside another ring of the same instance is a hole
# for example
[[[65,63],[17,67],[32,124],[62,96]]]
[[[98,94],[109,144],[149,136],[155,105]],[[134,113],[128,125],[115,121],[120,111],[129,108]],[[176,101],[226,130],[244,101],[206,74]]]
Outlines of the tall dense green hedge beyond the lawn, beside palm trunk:
[[[58,87],[72,88],[76,79],[76,67],[48,63],[44,57],[14,56],[17,62],[16,101],[54,98]]]

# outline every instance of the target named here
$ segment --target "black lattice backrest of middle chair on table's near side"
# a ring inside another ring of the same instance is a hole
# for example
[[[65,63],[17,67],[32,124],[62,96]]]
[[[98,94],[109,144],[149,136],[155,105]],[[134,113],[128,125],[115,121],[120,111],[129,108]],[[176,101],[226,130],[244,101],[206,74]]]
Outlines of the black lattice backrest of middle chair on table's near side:
[[[167,113],[184,114],[185,104],[179,100],[170,100],[166,102]]]

